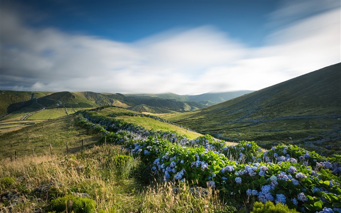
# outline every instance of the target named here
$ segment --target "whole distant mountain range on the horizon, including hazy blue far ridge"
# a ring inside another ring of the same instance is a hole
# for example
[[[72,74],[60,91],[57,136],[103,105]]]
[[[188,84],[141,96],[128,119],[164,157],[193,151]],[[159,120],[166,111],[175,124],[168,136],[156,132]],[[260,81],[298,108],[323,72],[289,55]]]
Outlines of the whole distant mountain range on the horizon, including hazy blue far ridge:
[[[216,104],[249,91],[208,93],[197,96],[176,94],[123,95],[95,92],[21,92],[0,91],[0,116],[18,110],[35,111],[43,108],[88,108],[104,105],[120,106],[137,112],[188,112]]]

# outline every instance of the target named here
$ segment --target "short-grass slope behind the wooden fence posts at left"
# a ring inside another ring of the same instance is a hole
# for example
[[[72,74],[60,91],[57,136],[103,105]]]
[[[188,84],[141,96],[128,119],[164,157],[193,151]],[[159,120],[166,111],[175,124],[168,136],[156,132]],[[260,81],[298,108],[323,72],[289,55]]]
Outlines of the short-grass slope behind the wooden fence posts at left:
[[[35,155],[48,155],[50,143],[56,155],[66,153],[66,142],[69,152],[73,153],[81,149],[83,139],[87,147],[95,144],[100,137],[89,135],[88,131],[77,127],[75,115],[64,116],[1,135],[0,159],[14,155],[15,151],[18,157],[32,155],[32,149]]]

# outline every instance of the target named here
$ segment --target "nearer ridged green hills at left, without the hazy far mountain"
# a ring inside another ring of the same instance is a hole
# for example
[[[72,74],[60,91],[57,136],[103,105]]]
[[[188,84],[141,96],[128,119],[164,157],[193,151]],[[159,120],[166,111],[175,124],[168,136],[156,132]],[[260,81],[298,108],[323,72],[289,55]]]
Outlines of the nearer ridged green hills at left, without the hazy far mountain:
[[[177,101],[159,97],[124,96],[122,94],[101,94],[94,92],[19,92],[0,91],[1,116],[20,112],[31,113],[44,109],[93,108],[112,105],[137,112],[170,113],[188,112],[205,107],[194,101]],[[66,109],[65,109],[66,110]],[[75,111],[75,110],[74,110]]]

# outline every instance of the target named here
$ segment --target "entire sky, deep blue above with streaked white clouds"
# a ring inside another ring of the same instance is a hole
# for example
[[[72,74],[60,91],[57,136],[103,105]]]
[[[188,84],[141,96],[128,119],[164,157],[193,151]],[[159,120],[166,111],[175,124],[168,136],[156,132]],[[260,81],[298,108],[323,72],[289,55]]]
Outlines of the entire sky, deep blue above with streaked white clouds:
[[[340,0],[0,4],[0,90],[260,90],[341,62]]]

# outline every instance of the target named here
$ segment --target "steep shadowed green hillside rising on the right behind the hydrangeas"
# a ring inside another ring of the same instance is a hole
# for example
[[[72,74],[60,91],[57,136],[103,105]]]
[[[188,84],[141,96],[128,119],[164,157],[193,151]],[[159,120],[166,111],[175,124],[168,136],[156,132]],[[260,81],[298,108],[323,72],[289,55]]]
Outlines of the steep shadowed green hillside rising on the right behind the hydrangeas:
[[[202,110],[163,117],[222,138],[296,142],[340,152],[340,80],[338,63]]]

